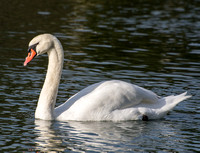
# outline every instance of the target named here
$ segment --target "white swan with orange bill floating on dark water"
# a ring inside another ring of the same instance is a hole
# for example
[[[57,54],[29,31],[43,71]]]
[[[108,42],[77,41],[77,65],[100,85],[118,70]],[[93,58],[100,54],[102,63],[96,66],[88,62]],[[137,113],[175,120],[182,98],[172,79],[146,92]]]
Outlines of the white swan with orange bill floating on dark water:
[[[158,98],[150,90],[118,80],[103,81],[81,90],[65,103],[55,107],[63,67],[63,48],[51,34],[42,34],[29,43],[26,66],[36,55],[49,57],[46,79],[42,87],[35,118],[43,120],[148,120],[160,119],[179,102],[191,97],[186,92],[178,96]]]

